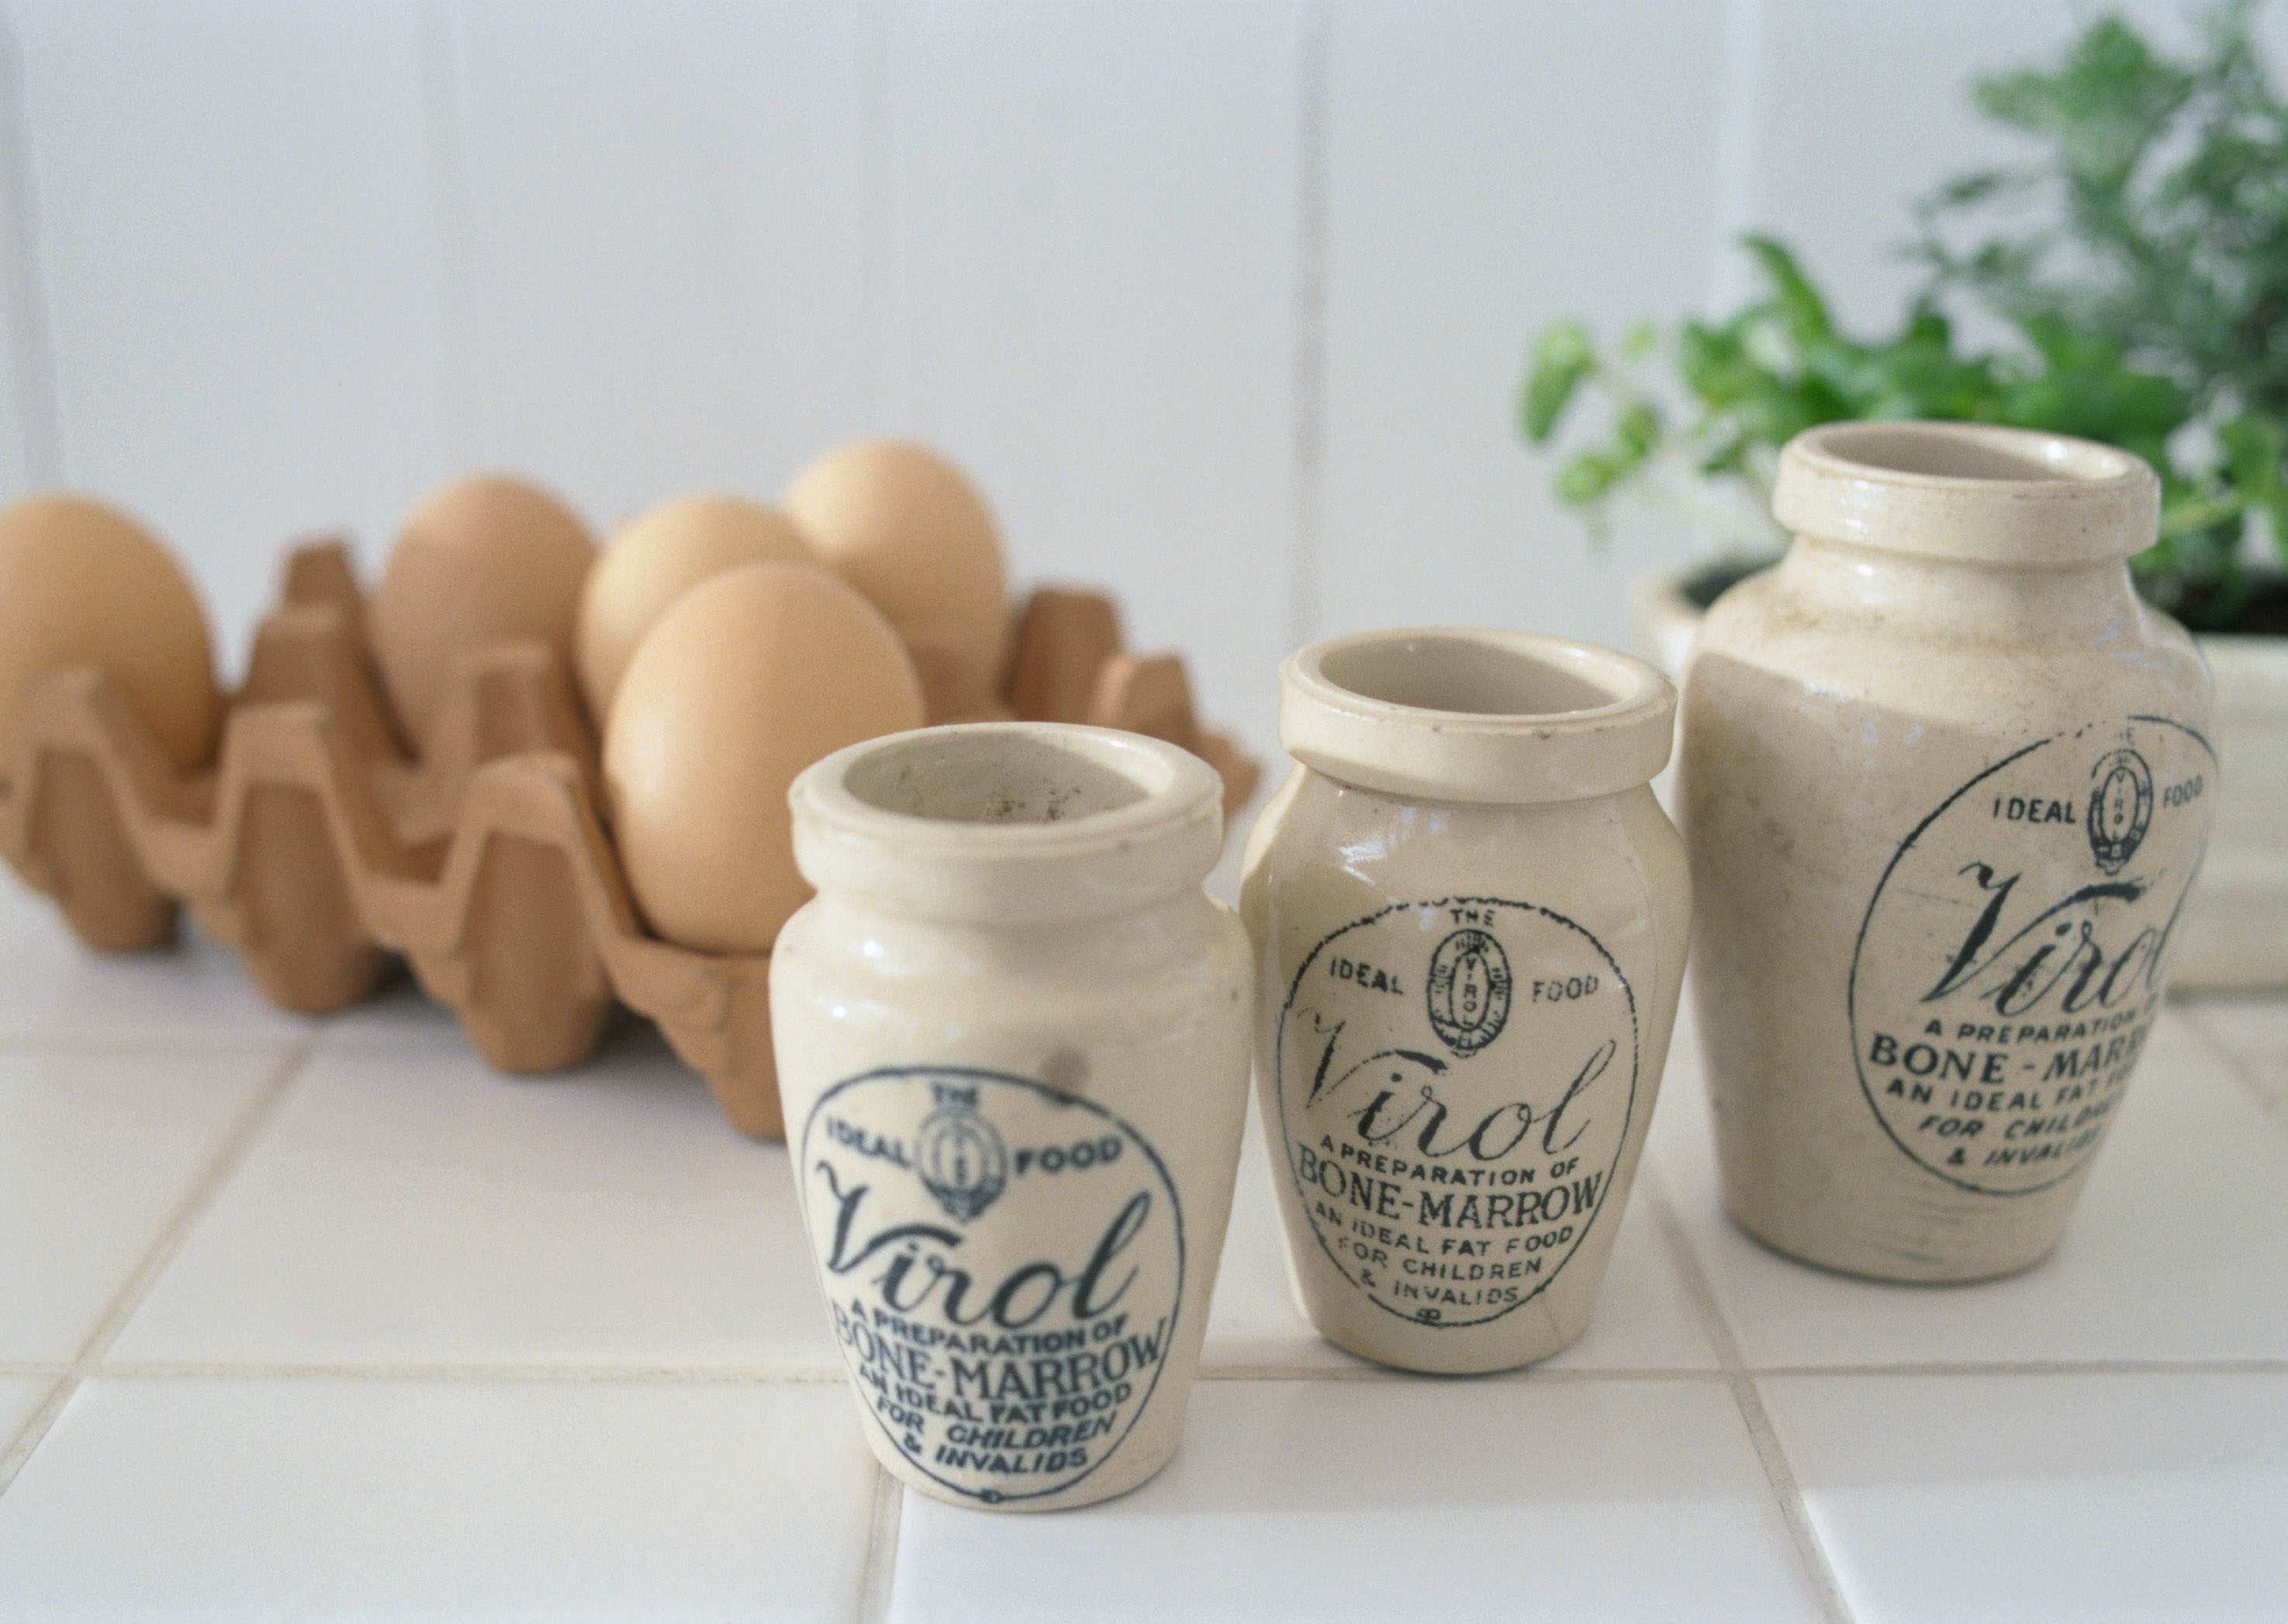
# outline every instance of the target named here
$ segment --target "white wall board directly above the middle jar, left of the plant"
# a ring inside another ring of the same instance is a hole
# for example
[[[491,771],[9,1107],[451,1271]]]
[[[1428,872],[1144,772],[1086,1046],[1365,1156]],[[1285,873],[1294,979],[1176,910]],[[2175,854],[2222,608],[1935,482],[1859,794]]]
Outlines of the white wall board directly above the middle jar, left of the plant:
[[[1700,304],[1725,0],[1334,14],[1311,622],[1629,638],[1517,435],[1531,332]],[[1682,544],[1682,538],[1679,538]]]

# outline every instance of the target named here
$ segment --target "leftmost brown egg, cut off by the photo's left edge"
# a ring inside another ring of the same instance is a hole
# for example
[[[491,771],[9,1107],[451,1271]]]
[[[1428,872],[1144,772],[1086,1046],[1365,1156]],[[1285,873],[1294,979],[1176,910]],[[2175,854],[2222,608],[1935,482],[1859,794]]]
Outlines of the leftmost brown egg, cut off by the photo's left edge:
[[[34,496],[0,515],[0,782],[23,748],[32,677],[96,666],[183,769],[215,753],[222,695],[183,567],[121,512]]]

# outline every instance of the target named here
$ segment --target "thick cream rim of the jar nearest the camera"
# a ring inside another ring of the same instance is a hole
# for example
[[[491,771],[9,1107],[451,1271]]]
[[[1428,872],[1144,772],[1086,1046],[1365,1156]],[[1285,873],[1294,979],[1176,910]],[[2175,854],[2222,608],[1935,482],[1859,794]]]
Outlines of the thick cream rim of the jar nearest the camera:
[[[956,723],[847,746],[796,775],[794,865],[819,892],[934,920],[1080,920],[1197,887],[1222,780],[1162,739]]]

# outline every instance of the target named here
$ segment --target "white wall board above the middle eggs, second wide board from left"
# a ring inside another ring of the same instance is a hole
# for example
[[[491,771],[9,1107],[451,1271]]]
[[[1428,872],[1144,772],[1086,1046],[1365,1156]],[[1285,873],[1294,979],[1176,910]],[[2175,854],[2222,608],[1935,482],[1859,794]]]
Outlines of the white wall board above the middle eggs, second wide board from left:
[[[856,7],[428,18],[474,453],[599,526],[769,496],[874,419],[881,176]]]

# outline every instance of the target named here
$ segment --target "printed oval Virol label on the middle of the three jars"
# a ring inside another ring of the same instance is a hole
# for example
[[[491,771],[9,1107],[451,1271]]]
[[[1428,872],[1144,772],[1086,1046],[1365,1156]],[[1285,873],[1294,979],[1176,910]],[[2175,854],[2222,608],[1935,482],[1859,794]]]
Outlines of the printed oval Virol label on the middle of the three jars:
[[[1549,908],[1400,903],[1304,956],[1274,1066],[1288,1176],[1343,1279],[1416,1324],[1483,1324],[1549,1285],[1604,1205],[1636,993]]]

